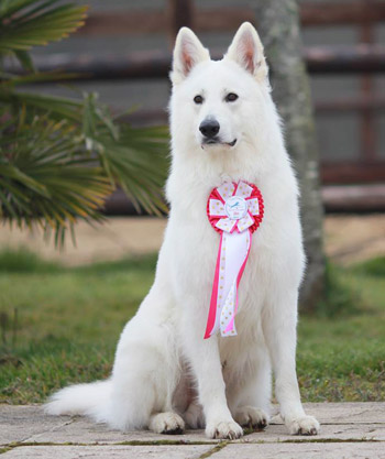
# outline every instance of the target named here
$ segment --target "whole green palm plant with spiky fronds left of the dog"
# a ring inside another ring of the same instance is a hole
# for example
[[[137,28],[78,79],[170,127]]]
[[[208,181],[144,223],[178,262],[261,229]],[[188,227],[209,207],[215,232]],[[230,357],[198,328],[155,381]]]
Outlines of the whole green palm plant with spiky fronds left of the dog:
[[[65,77],[36,73],[29,51],[67,36],[85,15],[85,7],[59,0],[0,0],[0,217],[20,228],[38,225],[58,244],[78,219],[100,221],[117,186],[136,208],[165,210],[164,128],[119,123],[95,94],[77,100],[20,90]],[[22,75],[6,70],[9,59]]]

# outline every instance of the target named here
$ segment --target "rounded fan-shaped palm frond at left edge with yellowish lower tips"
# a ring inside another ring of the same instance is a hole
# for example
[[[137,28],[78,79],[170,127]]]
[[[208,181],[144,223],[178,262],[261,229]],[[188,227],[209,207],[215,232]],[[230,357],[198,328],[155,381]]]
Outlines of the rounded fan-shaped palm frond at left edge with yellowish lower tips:
[[[100,220],[112,187],[98,162],[85,157],[67,121],[37,117],[1,132],[1,216],[19,227],[37,223],[56,238],[77,219]]]

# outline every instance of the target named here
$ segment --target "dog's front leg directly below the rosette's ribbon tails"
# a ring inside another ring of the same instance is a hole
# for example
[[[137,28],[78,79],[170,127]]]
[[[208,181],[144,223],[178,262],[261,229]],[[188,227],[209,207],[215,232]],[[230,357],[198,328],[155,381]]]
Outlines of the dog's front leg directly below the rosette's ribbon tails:
[[[209,438],[235,439],[243,435],[226,400],[226,386],[218,349],[218,338],[204,340],[194,321],[185,328],[185,351],[197,382],[199,403],[204,407],[206,435]]]

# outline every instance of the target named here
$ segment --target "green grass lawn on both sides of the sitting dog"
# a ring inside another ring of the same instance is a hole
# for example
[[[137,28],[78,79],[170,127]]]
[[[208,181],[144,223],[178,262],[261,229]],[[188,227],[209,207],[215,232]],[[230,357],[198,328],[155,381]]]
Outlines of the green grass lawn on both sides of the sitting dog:
[[[109,375],[155,262],[153,255],[66,269],[23,250],[0,252],[0,402],[43,402],[65,384]],[[384,400],[384,266],[377,259],[329,267],[318,313],[299,320],[304,401]]]

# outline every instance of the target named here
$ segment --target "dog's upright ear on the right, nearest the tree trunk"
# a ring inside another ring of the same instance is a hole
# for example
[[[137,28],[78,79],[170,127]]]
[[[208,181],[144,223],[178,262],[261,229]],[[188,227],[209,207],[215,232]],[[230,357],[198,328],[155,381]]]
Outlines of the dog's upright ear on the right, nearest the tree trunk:
[[[264,81],[267,78],[268,68],[263,45],[250,22],[244,22],[239,28],[224,58],[235,61],[257,80]]]

